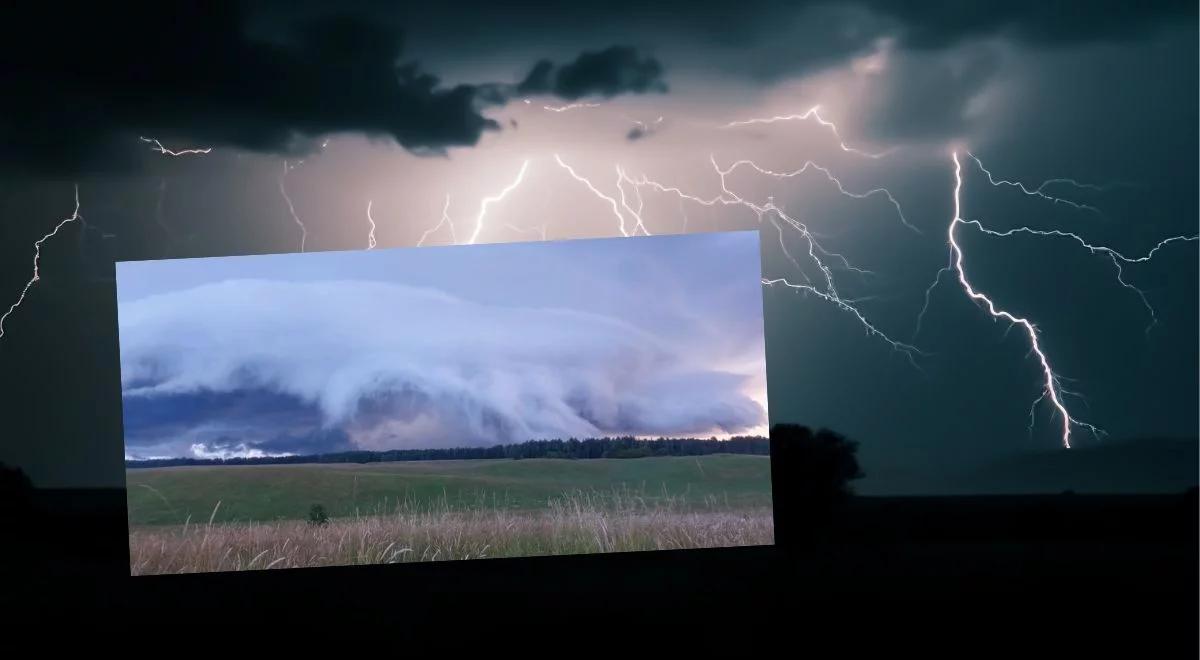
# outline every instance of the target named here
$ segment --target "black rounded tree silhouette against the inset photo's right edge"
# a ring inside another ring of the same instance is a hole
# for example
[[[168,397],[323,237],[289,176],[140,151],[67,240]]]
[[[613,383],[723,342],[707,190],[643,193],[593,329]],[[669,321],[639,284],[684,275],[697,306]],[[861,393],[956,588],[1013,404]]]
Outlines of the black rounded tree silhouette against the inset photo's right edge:
[[[858,443],[821,428],[778,424],[770,430],[775,541],[791,546],[828,532],[863,478]]]

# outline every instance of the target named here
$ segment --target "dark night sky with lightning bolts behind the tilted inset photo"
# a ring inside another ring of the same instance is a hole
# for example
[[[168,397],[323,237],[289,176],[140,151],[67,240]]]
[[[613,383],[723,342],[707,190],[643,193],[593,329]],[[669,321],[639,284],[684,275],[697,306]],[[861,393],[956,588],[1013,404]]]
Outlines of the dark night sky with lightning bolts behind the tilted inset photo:
[[[122,484],[114,262],[722,229],[778,281],[770,421],[864,492],[1195,480],[1194,2],[2,12],[0,313],[80,204],[0,337],[40,485]]]

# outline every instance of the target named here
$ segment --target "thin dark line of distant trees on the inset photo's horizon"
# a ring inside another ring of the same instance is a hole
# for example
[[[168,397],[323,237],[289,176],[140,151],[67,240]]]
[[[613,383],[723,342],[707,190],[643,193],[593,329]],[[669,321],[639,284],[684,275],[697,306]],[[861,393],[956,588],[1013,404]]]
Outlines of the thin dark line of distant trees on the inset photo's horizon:
[[[454,461],[466,458],[642,458],[646,456],[707,456],[709,454],[770,454],[770,442],[762,436],[716,438],[659,438],[640,440],[622,438],[570,438],[566,440],[528,440],[492,446],[454,449],[392,449],[389,451],[337,451],[260,458],[152,458],[126,461],[127,468],[164,468],[172,466],[269,466],[292,463],[388,463],[394,461]]]

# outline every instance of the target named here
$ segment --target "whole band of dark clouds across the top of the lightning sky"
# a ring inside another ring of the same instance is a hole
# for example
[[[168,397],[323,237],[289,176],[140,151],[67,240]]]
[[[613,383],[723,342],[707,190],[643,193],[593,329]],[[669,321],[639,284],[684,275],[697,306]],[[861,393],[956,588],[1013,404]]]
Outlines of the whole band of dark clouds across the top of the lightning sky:
[[[101,5],[8,7],[0,20],[0,167],[35,174],[128,167],[140,134],[302,152],[319,136],[356,132],[438,152],[499,130],[484,112],[517,90],[577,100],[666,89],[661,64],[631,47],[586,52],[563,65],[541,60],[523,78],[515,76],[517,85],[446,86],[403,61],[404,29],[436,34],[445,52],[486,42],[497,53],[629,31],[680,44],[679,53],[706,43],[732,49],[712,66],[770,79],[842,62],[884,36],[911,49],[986,36],[1052,46],[1127,38],[1195,14],[1194,2],[1178,0],[748,0],[739,7],[618,0],[552,11],[539,2],[498,7],[467,0],[418,11],[349,2],[336,16],[326,5],[233,0],[145,4],[120,13]]]

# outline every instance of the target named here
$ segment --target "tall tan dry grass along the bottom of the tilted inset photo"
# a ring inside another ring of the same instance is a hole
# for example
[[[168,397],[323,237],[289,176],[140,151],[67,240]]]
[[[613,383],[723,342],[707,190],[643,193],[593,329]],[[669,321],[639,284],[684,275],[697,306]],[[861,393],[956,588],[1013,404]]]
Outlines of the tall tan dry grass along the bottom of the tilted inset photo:
[[[482,504],[482,503],[481,503]],[[769,509],[732,510],[722,500],[648,499],[636,492],[575,491],[545,510],[493,502],[467,511],[449,502],[398,502],[370,515],[305,521],[233,522],[130,530],[133,575],[394,564],[642,550],[767,545]],[[218,504],[220,506],[220,504]],[[214,516],[215,516],[214,510]]]

